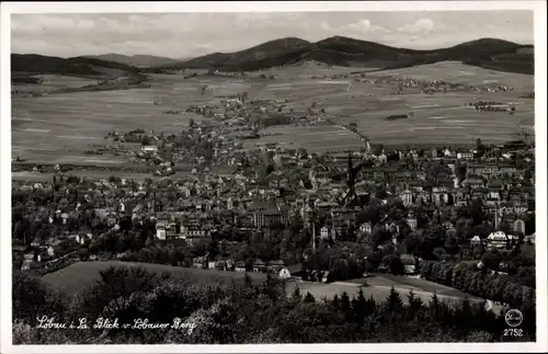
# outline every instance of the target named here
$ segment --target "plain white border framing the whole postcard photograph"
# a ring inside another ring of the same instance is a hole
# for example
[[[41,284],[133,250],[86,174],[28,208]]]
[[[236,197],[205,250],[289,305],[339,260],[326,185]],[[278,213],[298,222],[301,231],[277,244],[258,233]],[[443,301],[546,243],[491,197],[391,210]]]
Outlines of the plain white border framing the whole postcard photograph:
[[[400,344],[309,344],[309,345],[11,345],[11,104],[10,33],[11,13],[109,13],[109,12],[306,12],[306,11],[535,11],[535,124],[536,132],[536,205],[537,205],[537,343],[403,343]],[[252,353],[252,352],[546,352],[547,346],[547,240],[546,230],[546,2],[545,1],[339,1],[339,2],[2,2],[1,3],[1,352],[2,353]],[[545,334],[541,334],[545,333]]]

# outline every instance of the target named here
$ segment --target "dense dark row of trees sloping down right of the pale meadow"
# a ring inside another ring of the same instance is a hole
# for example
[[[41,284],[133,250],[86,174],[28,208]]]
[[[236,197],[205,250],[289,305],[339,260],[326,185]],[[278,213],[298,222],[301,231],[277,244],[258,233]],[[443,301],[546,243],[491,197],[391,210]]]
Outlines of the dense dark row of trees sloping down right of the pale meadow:
[[[466,264],[424,261],[421,266],[421,276],[427,281],[513,307],[535,307],[534,288],[503,279],[496,273],[470,269]]]

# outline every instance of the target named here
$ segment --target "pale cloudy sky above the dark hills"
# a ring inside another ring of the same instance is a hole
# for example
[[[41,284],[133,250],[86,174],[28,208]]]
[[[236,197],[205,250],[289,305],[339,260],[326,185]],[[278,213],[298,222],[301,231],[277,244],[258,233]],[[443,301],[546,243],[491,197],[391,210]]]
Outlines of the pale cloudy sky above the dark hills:
[[[281,37],[339,35],[434,49],[481,37],[533,44],[533,12],[217,12],[12,14],[11,49],[58,57],[125,54],[171,58],[236,52]]]

